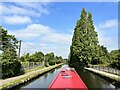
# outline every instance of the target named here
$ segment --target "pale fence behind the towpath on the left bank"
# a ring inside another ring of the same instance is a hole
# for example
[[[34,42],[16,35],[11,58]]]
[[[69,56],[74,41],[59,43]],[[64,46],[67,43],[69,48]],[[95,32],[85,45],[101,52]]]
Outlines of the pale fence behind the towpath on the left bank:
[[[22,68],[24,70],[29,70],[38,66],[44,66],[43,62],[21,62]]]

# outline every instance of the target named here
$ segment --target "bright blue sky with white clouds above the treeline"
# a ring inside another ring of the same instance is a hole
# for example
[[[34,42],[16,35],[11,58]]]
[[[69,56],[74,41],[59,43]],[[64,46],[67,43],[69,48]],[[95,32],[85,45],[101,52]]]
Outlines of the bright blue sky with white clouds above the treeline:
[[[118,49],[117,2],[3,2],[2,26],[23,40],[21,55],[42,51],[67,58],[82,8],[93,15],[99,44]]]

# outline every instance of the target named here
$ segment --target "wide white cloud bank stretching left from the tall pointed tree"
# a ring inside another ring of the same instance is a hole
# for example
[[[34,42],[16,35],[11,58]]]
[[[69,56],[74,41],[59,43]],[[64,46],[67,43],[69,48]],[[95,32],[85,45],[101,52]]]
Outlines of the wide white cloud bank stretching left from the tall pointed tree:
[[[42,24],[31,24],[25,29],[9,31],[10,34],[16,35],[21,39],[35,39],[40,38],[41,41],[51,43],[68,43],[72,40],[71,34],[58,33],[49,26]]]

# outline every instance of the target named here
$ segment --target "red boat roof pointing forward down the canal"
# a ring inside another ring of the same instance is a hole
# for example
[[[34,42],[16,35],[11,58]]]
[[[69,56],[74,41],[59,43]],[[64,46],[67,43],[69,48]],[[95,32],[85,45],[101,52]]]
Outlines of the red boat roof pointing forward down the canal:
[[[49,89],[57,89],[57,88],[64,88],[64,89],[84,89],[87,90],[86,85],[79,77],[77,72],[74,68],[63,68],[55,80],[49,86]]]

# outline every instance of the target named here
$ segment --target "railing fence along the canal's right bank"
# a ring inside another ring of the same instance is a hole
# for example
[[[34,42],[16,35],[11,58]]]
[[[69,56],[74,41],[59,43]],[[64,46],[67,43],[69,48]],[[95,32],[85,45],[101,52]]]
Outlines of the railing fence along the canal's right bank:
[[[104,71],[104,72],[108,72],[108,73],[112,73],[120,76],[120,70],[115,68],[106,67],[106,66],[95,66],[95,65],[90,66],[90,68],[94,68],[96,70],[100,70],[100,71]]]

